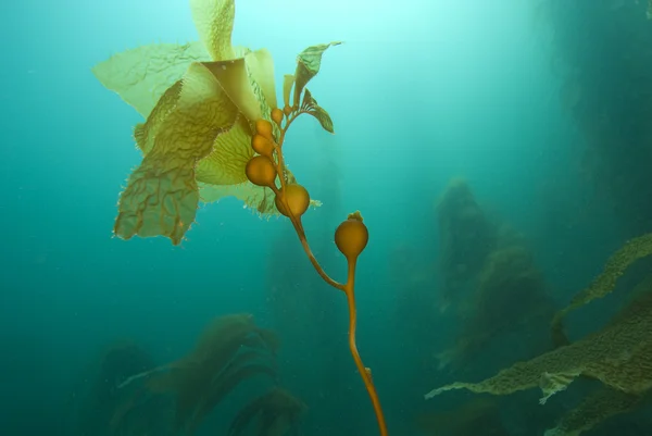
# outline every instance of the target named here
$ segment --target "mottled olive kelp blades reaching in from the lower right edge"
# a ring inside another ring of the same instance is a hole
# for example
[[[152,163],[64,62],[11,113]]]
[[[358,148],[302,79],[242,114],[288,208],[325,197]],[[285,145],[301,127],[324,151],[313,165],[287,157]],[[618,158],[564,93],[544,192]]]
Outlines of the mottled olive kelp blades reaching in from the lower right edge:
[[[614,253],[604,271],[553,321],[559,331],[561,319],[572,309],[611,292],[618,277],[638,259],[652,254],[652,234],[635,238]],[[650,281],[643,282],[647,285]],[[559,347],[526,362],[518,362],[479,383],[453,383],[432,389],[426,399],[447,390],[507,395],[539,387],[540,403],[565,390],[577,377],[598,379],[604,385],[587,397],[549,436],[579,435],[603,419],[630,410],[652,389],[652,288],[638,289],[634,298],[599,332]]]

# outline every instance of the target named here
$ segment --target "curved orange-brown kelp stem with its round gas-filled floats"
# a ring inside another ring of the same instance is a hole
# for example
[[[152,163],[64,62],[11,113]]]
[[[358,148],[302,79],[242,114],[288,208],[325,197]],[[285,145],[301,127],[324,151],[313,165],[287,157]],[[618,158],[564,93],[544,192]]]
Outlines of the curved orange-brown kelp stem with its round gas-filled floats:
[[[302,113],[306,113],[301,108],[286,108],[286,111],[274,109],[272,120],[278,125],[278,141],[274,138],[274,127],[266,120],[259,120],[255,123],[255,135],[251,145],[259,155],[252,158],[247,164],[247,177],[251,183],[258,186],[265,186],[275,194],[275,203],[278,211],[290,219],[299,240],[314,266],[315,271],[328,285],[344,292],[349,307],[349,348],[355,366],[360,372],[362,381],[372,399],[376,420],[380,428],[380,435],[387,436],[387,425],[378,393],[372,379],[372,371],[364,365],[355,344],[356,311],[355,311],[355,265],[358,257],[362,253],[368,241],[368,231],[363,223],[360,212],[349,214],[335,232],[335,244],[342,254],[347,258],[348,277],[347,283],[341,284],[334,281],[322,267],[313,254],[305,231],[301,223],[301,216],[310,205],[310,195],[308,190],[288,177],[283,155],[283,145],[289,126]],[[285,120],[285,123],[284,123]],[[284,125],[285,124],[285,125]],[[279,185],[276,184],[276,178]]]

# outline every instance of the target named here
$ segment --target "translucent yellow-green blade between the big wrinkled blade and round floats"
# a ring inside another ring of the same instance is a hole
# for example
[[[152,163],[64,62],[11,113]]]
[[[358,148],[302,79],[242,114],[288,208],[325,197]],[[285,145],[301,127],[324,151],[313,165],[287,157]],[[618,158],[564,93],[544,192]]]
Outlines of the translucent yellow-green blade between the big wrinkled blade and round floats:
[[[244,167],[251,158],[251,127],[240,116],[234,127],[217,136],[213,151],[197,165],[197,180],[211,185],[237,185],[247,182]]]

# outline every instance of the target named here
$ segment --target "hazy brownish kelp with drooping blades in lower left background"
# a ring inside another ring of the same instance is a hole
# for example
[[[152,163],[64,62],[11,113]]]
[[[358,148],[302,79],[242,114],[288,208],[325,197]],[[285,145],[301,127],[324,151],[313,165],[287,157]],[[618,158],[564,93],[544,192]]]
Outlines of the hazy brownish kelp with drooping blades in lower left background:
[[[276,335],[256,326],[252,315],[221,316],[206,327],[187,356],[135,374],[117,386],[117,389],[126,389],[145,381],[143,386],[133,393],[131,402],[115,413],[113,426],[122,425],[128,414],[138,413],[140,398],[172,394],[174,421],[171,428],[193,434],[204,418],[242,382],[263,375],[273,382],[273,391],[277,389],[277,349]],[[284,418],[298,425],[303,410],[292,409],[292,413],[288,410],[289,415]]]

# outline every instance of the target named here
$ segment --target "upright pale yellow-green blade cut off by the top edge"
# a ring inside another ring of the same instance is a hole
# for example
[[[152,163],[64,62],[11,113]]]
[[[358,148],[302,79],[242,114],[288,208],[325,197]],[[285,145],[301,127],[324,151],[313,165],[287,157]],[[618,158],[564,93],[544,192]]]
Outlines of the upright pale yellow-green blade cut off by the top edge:
[[[234,59],[231,34],[236,17],[234,0],[190,0],[192,21],[213,61]]]

